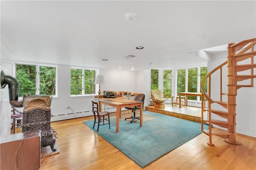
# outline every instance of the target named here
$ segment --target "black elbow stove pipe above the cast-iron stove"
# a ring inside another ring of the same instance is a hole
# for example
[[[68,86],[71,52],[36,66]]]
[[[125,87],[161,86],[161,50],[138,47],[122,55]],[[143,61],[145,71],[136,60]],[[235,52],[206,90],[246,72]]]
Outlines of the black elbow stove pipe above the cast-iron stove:
[[[22,107],[22,101],[18,101],[20,92],[20,83],[12,76],[6,76],[4,71],[1,71],[0,76],[1,88],[8,85],[9,88],[9,102],[13,107]]]

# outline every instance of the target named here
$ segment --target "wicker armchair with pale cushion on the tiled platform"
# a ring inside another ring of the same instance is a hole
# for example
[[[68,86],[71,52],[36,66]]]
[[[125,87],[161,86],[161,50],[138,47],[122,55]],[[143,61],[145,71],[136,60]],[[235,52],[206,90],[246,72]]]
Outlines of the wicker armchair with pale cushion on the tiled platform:
[[[164,108],[164,102],[169,99],[161,90],[151,90],[152,101],[155,102],[155,108]]]

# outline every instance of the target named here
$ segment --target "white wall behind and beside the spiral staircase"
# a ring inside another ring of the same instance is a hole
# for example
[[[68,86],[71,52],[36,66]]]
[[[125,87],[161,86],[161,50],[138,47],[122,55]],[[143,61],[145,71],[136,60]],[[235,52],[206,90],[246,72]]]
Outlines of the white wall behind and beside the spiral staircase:
[[[208,72],[216,68],[218,65],[227,61],[227,53],[218,53],[213,55],[212,61],[208,62]],[[256,58],[254,59],[254,63]],[[227,76],[226,72],[227,69],[223,69],[224,76],[223,82],[224,85],[222,86],[223,92],[227,92]],[[254,74],[256,74],[256,70],[254,68]],[[216,85],[212,85],[211,93],[212,98],[219,98],[220,86],[219,86],[219,79],[220,74],[212,76],[212,82]],[[224,98],[223,101],[226,102],[227,99]],[[220,106],[213,106],[212,109],[219,109],[222,110]],[[219,119],[218,116],[213,116],[212,119]],[[256,137],[256,78],[254,78],[254,87],[253,88],[240,88],[237,91],[236,96],[236,133],[241,133],[244,135]]]

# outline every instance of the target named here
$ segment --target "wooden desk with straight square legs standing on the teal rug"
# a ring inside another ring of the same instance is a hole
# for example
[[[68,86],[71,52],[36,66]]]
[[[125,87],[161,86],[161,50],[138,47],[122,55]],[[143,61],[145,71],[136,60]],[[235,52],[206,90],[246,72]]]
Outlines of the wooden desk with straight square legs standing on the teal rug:
[[[101,110],[101,104],[116,107],[116,133],[119,132],[119,118],[121,118],[122,107],[140,106],[140,127],[142,127],[142,102],[126,99],[99,100],[99,110]]]

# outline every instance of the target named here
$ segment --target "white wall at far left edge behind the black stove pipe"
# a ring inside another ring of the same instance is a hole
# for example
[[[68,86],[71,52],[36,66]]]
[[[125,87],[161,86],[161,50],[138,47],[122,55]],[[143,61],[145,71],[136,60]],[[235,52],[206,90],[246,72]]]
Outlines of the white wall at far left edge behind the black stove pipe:
[[[12,60],[10,50],[1,40],[0,71],[6,75],[12,74]],[[1,87],[0,87],[1,88]],[[8,85],[0,89],[0,135],[10,134],[11,128],[11,105],[9,104]]]

